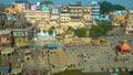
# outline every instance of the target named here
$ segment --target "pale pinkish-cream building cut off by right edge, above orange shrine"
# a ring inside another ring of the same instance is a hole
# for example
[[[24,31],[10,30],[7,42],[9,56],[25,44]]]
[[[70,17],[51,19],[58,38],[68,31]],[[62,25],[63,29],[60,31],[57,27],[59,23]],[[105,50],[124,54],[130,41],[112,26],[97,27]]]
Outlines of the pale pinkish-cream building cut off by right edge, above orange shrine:
[[[127,18],[127,23],[125,28],[125,33],[131,34],[133,33],[133,10],[129,11],[126,18]]]

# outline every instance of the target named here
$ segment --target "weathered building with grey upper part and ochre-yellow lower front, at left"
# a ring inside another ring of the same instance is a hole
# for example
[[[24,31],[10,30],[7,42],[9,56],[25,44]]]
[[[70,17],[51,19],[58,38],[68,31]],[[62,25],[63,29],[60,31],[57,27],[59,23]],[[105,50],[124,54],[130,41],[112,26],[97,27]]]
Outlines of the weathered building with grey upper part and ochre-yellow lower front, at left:
[[[12,30],[12,35],[17,47],[29,46],[30,41],[33,39],[32,24],[23,21],[23,19],[17,21]]]

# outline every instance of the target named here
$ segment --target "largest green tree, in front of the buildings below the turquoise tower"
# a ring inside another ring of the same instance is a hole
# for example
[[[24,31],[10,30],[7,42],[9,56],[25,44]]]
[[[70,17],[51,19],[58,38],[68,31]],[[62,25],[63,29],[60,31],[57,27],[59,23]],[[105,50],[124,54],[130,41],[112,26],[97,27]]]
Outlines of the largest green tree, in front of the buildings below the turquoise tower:
[[[90,36],[93,39],[98,39],[100,36],[104,36],[110,30],[112,30],[112,25],[108,21],[98,21],[98,25],[92,25],[90,30]]]

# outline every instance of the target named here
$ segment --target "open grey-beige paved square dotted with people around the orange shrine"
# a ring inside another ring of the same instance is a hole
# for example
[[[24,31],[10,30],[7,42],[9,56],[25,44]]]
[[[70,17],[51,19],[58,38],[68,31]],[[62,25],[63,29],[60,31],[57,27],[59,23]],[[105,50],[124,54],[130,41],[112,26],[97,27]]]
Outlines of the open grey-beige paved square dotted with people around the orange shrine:
[[[117,71],[119,68],[133,69],[133,55],[116,56],[115,46],[123,40],[127,40],[131,46],[133,46],[133,35],[123,34],[123,32],[114,31],[110,32],[111,36],[106,36],[108,45],[92,46],[71,46],[65,47],[65,53],[68,56],[71,56],[69,60],[75,61],[72,63],[74,66],[71,68],[81,68],[83,72],[101,72],[101,71]],[[113,34],[113,35],[112,35]],[[112,44],[112,45],[110,45]],[[78,56],[81,54],[86,54],[89,58],[83,58]],[[114,58],[129,58],[125,62],[115,62]]]

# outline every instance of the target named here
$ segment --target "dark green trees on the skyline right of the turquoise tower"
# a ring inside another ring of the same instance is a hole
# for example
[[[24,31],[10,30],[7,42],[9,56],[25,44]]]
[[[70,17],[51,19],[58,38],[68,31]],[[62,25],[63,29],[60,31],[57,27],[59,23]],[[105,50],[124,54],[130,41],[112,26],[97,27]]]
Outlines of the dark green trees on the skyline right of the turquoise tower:
[[[108,1],[100,2],[100,7],[101,7],[100,11],[102,14],[109,13],[115,10],[125,10],[123,6],[112,4],[111,2],[108,2]]]

